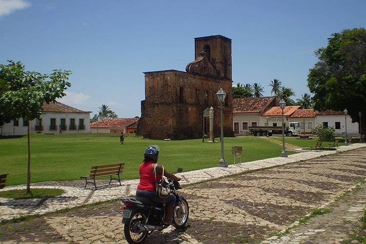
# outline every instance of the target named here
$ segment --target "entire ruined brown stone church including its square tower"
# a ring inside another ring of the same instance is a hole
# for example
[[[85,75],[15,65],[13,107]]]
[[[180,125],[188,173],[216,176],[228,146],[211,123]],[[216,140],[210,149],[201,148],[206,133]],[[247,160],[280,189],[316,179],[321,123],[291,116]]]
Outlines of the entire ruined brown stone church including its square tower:
[[[216,92],[227,93],[224,102],[224,136],[233,136],[231,40],[223,36],[195,38],[195,61],[187,72],[145,72],[145,100],[137,135],[151,139],[191,139],[208,135],[203,110],[214,107],[214,134],[220,135]],[[204,130],[204,131],[203,131]]]

